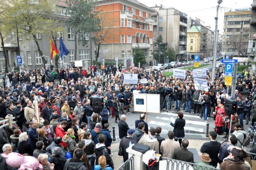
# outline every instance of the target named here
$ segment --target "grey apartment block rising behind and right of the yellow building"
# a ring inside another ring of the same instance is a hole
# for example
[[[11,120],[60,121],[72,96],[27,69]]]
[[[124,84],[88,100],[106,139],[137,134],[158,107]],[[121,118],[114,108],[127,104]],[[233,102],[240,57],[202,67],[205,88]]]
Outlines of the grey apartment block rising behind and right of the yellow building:
[[[211,30],[210,26],[204,26],[204,22],[200,18],[195,20],[189,18],[190,26],[196,26],[201,33],[200,38],[200,57],[206,58],[213,56],[214,48],[214,31]],[[190,39],[188,35],[188,39]],[[189,48],[189,47],[188,47]],[[192,58],[192,56],[190,56]]]

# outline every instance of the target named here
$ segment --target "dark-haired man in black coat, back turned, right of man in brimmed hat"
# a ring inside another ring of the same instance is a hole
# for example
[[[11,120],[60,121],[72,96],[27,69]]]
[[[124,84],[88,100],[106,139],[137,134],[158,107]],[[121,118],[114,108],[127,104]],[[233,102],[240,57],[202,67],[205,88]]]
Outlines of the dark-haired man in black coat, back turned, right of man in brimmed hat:
[[[209,154],[212,160],[210,164],[216,168],[218,164],[218,154],[220,152],[221,144],[220,142],[216,141],[217,133],[215,131],[209,132],[209,138],[210,138],[210,142],[204,143],[201,146],[200,152]]]

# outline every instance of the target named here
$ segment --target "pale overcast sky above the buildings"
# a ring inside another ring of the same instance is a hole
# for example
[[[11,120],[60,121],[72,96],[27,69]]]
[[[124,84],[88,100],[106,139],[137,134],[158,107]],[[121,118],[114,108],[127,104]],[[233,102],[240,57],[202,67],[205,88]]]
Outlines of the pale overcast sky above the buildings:
[[[205,22],[205,26],[210,25],[212,30],[215,30],[215,20],[216,16],[216,6],[217,0],[138,0],[139,2],[152,7],[156,4],[163,7],[174,7],[175,9],[186,13],[188,16],[191,16],[193,19],[200,18]],[[219,10],[219,20],[218,20],[218,29],[220,33],[223,32],[223,22],[224,22],[224,12],[236,8],[249,8],[251,7],[253,0],[223,0],[220,6],[225,7],[220,8]],[[214,7],[215,8],[211,8]],[[210,9],[205,9],[210,8]],[[228,9],[227,9],[228,8]]]

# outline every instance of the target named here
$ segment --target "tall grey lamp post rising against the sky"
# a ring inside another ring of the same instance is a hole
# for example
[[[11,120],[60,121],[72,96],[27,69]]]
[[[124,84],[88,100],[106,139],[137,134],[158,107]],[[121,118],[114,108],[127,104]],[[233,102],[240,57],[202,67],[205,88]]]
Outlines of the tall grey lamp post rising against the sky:
[[[212,64],[212,82],[215,78],[216,69],[216,55],[217,55],[217,43],[218,43],[218,11],[222,0],[218,0],[218,6],[216,7],[216,17],[215,17],[215,37],[214,37],[214,52],[213,52],[213,64]]]

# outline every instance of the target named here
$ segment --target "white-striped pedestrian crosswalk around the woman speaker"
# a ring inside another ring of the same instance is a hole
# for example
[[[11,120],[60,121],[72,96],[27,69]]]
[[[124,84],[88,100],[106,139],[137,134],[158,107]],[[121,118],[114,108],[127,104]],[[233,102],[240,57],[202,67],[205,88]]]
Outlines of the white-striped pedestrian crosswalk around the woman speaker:
[[[169,130],[173,130],[173,127],[170,125],[170,118],[176,119],[177,113],[162,112],[160,115],[156,115],[154,120],[148,122],[148,126],[160,126],[162,128],[162,133],[167,133]],[[186,133],[204,133],[206,131],[206,122],[201,120],[199,116],[184,114],[183,118],[186,120],[186,125],[184,127]]]

